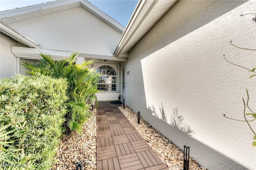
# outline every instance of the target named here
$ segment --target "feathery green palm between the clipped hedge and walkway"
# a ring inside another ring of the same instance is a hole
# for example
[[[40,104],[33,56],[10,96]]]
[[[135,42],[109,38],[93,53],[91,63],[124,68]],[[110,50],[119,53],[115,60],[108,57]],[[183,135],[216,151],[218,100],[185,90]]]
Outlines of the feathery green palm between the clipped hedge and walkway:
[[[96,60],[84,61],[81,65],[74,64],[79,53],[73,52],[70,57],[54,60],[50,55],[40,53],[42,59],[37,63],[22,63],[30,75],[38,73],[54,78],[65,78],[68,81],[66,105],[68,112],[65,115],[64,127],[66,133],[71,130],[81,132],[82,124],[90,116],[90,106],[95,98],[100,73],[89,69]]]

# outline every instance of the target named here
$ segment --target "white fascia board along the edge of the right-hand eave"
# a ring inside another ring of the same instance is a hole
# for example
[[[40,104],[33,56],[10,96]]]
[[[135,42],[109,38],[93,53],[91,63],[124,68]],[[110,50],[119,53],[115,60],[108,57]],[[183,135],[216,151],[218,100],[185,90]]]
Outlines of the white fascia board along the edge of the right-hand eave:
[[[156,5],[158,0],[140,0],[130,18],[124,33],[118,42],[116,50],[114,51],[114,56],[118,56],[122,51],[124,45],[130,40],[132,35],[138,30],[142,22],[148,16],[152,8]]]

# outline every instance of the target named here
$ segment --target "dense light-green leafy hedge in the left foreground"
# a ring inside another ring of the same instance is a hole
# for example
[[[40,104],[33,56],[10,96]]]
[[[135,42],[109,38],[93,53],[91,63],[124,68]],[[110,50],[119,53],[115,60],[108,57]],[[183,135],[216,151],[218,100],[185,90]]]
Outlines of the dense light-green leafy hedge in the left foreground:
[[[44,75],[0,80],[0,166],[50,169],[65,121],[67,82]]]

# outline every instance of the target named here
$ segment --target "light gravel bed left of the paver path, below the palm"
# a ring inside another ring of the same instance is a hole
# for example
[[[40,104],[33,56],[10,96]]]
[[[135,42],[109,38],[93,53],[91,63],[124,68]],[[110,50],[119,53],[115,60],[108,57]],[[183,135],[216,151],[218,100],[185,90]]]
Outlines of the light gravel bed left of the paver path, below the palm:
[[[84,123],[82,134],[72,132],[62,138],[56,153],[54,170],[75,170],[76,162],[82,161],[83,170],[96,169],[96,109],[93,116]]]

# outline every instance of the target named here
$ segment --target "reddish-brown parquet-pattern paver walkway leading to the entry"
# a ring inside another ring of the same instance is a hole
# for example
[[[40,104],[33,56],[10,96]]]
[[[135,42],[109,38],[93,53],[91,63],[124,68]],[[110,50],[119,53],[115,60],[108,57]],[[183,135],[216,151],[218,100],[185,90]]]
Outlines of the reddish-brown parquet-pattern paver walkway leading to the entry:
[[[118,106],[97,108],[97,170],[168,170]]]

